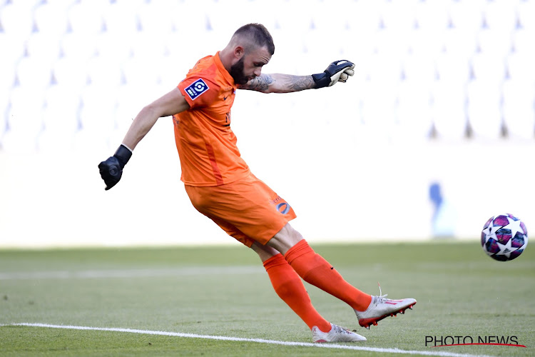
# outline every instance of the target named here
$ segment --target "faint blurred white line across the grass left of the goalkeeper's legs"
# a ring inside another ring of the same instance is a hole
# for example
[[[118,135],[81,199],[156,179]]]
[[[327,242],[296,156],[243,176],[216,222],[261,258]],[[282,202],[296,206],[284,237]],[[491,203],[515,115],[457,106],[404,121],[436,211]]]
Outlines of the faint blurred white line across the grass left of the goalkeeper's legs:
[[[263,273],[262,266],[199,266],[162,269],[111,269],[86,271],[14,271],[0,273],[0,280],[142,278],[156,276],[195,276]]]

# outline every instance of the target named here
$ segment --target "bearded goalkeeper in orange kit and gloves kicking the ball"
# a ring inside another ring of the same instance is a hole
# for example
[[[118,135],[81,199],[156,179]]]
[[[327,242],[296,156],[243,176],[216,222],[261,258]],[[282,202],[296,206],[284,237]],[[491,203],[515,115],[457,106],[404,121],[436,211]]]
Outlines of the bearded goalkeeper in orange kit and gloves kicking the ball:
[[[301,278],[345,301],[364,327],[412,308],[416,300],[391,300],[380,293],[370,296],[347,283],[290,226],[288,222],[295,218],[290,204],[251,173],[230,129],[236,89],[263,93],[320,89],[347,81],[355,65],[335,61],[322,73],[309,76],[263,74],[274,52],[272,37],[263,25],[240,27],[223,50],[200,59],[177,88],[144,107],[116,154],[98,168],[106,190],[115,186],[143,136],[158,118],[173,116],[180,179],[193,206],[258,253],[275,292],[311,329],[313,341],[365,341],[320,316]]]

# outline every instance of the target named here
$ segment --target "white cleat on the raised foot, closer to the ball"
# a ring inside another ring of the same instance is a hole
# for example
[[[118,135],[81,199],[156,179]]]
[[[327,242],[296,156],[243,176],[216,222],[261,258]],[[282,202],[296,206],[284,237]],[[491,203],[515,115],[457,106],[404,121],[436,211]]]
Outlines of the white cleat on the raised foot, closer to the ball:
[[[372,325],[377,326],[377,321],[388,316],[395,317],[397,313],[405,313],[407,308],[412,309],[412,306],[416,303],[414,298],[391,300],[385,296],[387,295],[372,296],[372,302],[366,311],[355,310],[360,326],[365,328],[370,328]]]

